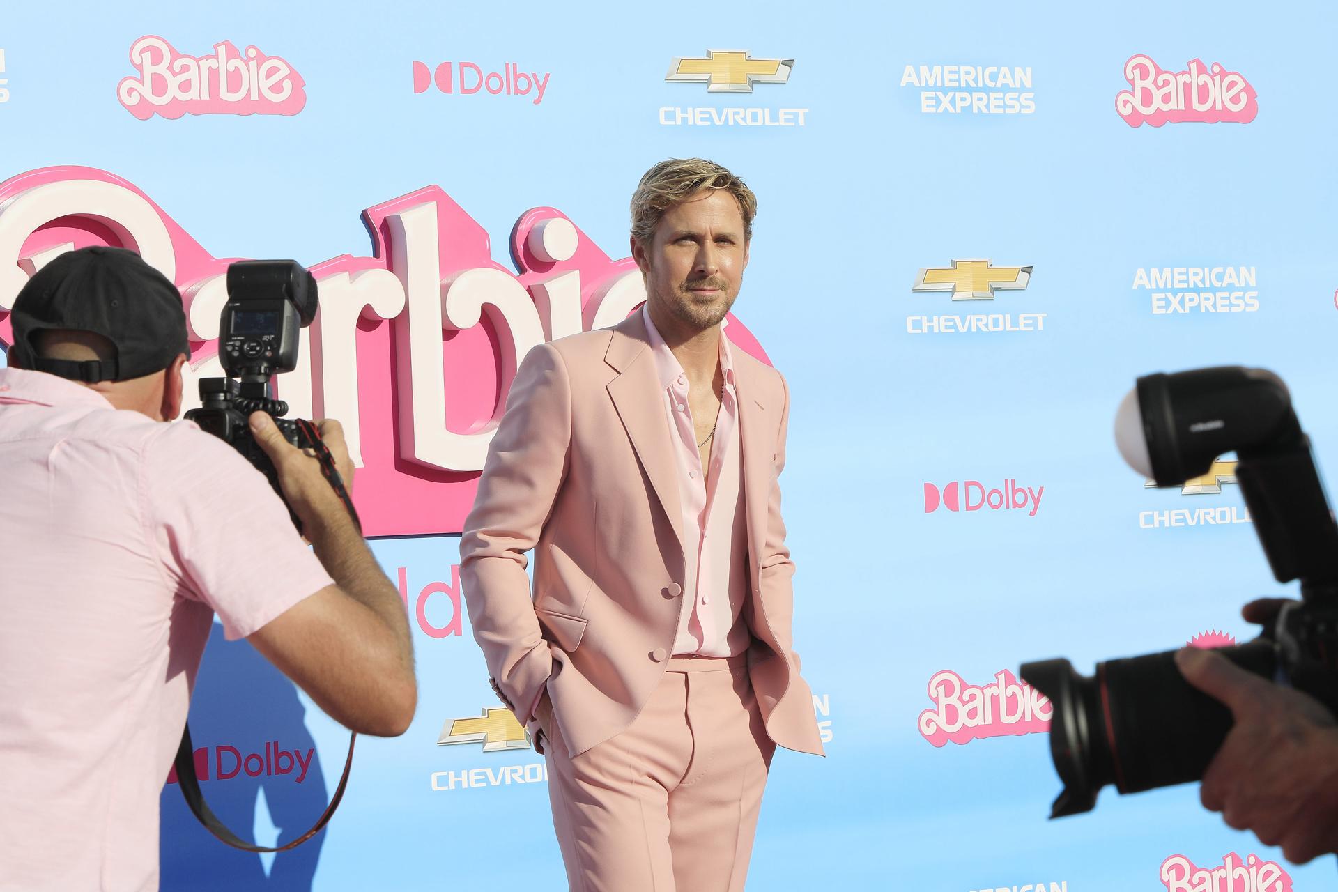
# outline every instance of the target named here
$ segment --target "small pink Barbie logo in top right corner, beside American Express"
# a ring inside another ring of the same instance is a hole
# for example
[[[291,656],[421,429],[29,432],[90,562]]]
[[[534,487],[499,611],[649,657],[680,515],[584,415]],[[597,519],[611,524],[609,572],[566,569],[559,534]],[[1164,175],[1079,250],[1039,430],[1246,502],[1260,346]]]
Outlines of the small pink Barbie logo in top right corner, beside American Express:
[[[1139,55],[1124,63],[1124,79],[1129,88],[1115,98],[1115,110],[1131,127],[1144,122],[1160,127],[1191,120],[1248,124],[1259,114],[1250,82],[1216,62],[1210,68],[1195,59],[1184,71],[1172,72]]]

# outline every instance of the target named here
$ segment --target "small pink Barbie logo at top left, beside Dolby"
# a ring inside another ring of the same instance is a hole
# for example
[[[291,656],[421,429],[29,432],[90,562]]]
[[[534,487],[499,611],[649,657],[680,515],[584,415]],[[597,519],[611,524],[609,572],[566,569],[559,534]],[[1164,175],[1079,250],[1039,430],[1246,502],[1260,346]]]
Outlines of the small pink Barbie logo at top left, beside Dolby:
[[[116,98],[131,115],[296,115],[306,104],[305,82],[278,56],[256,47],[238,52],[226,40],[207,56],[186,56],[153,35],[130,47],[138,78],[126,78]]]

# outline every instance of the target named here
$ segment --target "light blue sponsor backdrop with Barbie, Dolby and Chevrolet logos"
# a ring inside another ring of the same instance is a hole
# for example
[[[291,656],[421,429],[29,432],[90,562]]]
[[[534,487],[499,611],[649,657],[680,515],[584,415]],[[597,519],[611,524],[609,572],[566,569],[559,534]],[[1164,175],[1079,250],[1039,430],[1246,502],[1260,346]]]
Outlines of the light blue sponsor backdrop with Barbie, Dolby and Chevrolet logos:
[[[312,843],[227,849],[167,780],[165,889],[563,885],[543,760],[463,611],[460,524],[516,362],[640,305],[629,198],[694,155],[759,197],[729,336],[792,389],[795,638],[828,753],[777,754],[749,887],[1338,885],[1195,785],[1048,821],[1050,705],[1017,674],[1243,641],[1239,606],[1287,591],[1232,456],[1156,489],[1111,431],[1140,374],[1256,365],[1338,467],[1329,4],[143,0],[0,21],[0,342],[35,269],[126,245],[185,296],[194,391],[227,262],[312,267],[320,316],[280,395],[343,420],[415,635],[417,715],[359,742]],[[203,792],[286,841],[347,734],[215,633]]]

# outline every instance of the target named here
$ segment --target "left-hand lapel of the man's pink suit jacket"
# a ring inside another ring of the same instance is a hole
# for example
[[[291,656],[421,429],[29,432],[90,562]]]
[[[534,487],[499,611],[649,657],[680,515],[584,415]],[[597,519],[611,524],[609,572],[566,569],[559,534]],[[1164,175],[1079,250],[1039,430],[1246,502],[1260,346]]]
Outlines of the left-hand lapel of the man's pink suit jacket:
[[[677,463],[673,455],[669,420],[665,419],[660,377],[641,313],[634,313],[613,329],[605,361],[619,372],[609,382],[609,396],[628,431],[650,485],[669,518],[682,547],[682,501],[678,496]]]

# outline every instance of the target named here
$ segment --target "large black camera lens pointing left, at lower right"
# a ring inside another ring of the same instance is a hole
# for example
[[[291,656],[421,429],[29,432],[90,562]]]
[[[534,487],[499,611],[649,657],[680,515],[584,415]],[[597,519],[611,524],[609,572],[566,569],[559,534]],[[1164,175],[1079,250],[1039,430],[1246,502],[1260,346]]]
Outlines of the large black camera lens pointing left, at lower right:
[[[1223,647],[1238,666],[1272,678],[1270,641]],[[1022,678],[1050,699],[1050,756],[1064,781],[1050,817],[1089,812],[1107,784],[1120,793],[1203,778],[1231,730],[1231,711],[1191,686],[1175,651],[1097,663],[1078,675],[1066,659],[1025,663]]]

